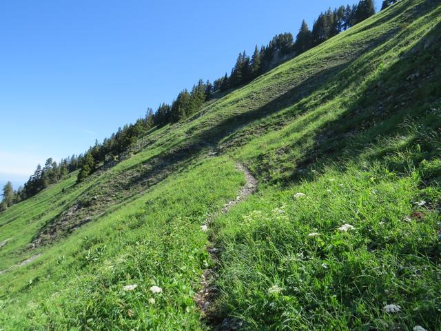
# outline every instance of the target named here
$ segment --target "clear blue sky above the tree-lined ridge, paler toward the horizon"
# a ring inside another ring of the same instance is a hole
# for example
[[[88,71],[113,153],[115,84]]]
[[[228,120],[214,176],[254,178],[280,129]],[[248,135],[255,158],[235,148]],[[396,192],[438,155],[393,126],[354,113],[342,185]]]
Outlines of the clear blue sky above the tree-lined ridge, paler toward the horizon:
[[[238,52],[353,0],[0,3],[0,181],[79,154]]]

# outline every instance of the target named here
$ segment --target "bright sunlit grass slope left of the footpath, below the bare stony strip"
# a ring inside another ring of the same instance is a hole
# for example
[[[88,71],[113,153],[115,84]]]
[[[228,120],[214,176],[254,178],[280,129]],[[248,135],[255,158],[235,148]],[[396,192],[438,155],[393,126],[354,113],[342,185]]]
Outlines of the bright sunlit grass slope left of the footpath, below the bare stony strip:
[[[2,286],[2,326],[176,330],[187,325],[197,330],[193,297],[208,263],[201,225],[207,214],[236,197],[244,183],[231,161],[208,160],[85,225],[32,265],[2,276],[2,284],[10,284]],[[130,284],[138,287],[123,291]],[[163,293],[152,294],[152,285],[161,286]]]

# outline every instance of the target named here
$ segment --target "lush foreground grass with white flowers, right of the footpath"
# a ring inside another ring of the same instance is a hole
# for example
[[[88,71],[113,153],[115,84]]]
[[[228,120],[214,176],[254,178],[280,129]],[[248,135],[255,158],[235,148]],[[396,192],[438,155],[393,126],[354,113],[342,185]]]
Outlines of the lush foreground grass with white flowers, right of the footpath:
[[[434,330],[441,191],[420,185],[418,172],[347,165],[261,191],[213,229],[223,248],[219,308],[258,330]],[[338,230],[346,223],[353,230]],[[387,314],[387,304],[402,311]]]

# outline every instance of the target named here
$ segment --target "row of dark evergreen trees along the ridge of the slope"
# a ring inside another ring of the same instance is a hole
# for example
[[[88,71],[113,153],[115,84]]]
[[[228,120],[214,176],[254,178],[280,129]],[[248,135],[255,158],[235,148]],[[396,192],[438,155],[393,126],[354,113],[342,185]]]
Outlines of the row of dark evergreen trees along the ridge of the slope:
[[[397,1],[384,0],[382,9]],[[225,73],[225,76],[216,79],[213,83],[210,81],[204,83],[200,79],[197,84],[194,84],[191,91],[185,89],[179,92],[171,105],[162,103],[156,112],[148,108],[145,117],[138,119],[134,124],[119,128],[116,133],[105,138],[102,143],[96,141],[95,145],[91,146],[84,154],[72,155],[70,158],[61,160],[59,164],[48,159],[43,168],[41,165],[37,166],[37,170],[28,182],[17,192],[12,190],[12,185],[8,182],[3,188],[0,211],[2,208],[8,208],[12,203],[32,197],[74,170],[80,169],[78,181],[83,181],[98,168],[99,163],[109,161],[112,157],[127,150],[141,134],[154,127],[187,119],[197,112],[203,103],[209,101],[214,93],[225,92],[249,83],[283,61],[292,59],[302,52],[320,45],[320,43],[364,21],[373,14],[375,14],[373,0],[360,0],[357,5],[340,6],[334,10],[329,8],[320,13],[314,21],[312,30],[309,30],[305,20],[302,21],[295,40],[291,33],[285,32],[273,37],[267,46],[258,48],[256,45],[252,57],[249,57],[245,51],[240,52],[229,75]]]

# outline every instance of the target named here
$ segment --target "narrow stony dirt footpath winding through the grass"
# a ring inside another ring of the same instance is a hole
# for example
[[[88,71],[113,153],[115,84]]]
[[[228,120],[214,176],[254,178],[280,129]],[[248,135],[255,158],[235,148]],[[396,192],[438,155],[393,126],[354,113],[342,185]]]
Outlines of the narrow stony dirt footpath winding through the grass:
[[[222,210],[212,214],[205,220],[205,225],[207,227],[209,227],[210,223],[212,223],[214,217],[218,216],[219,214],[227,213],[234,205],[245,200],[250,194],[253,194],[257,190],[258,181],[252,175],[252,173],[249,172],[247,168],[245,168],[243,165],[239,163],[236,164],[236,168],[245,174],[245,179],[247,180],[247,183],[245,183],[243,188],[240,189],[240,192],[236,197],[236,199],[229,201],[228,203],[223,205]],[[214,261],[216,261],[217,264],[217,261],[219,261],[220,250],[218,248],[214,248],[212,243],[209,243],[207,245],[207,250],[209,252],[210,257]],[[222,319],[216,314],[216,312],[213,312],[211,310],[212,303],[214,302],[214,299],[216,298],[216,294],[218,293],[218,290],[215,286],[216,277],[217,277],[216,268],[204,270],[201,280],[202,288],[196,294],[194,301],[196,302],[196,305],[201,310],[201,312],[203,312],[205,321],[207,322],[207,325],[209,325],[210,330],[216,330],[216,331],[238,330],[242,326],[241,321],[238,321],[236,319],[229,319],[229,318]]]

